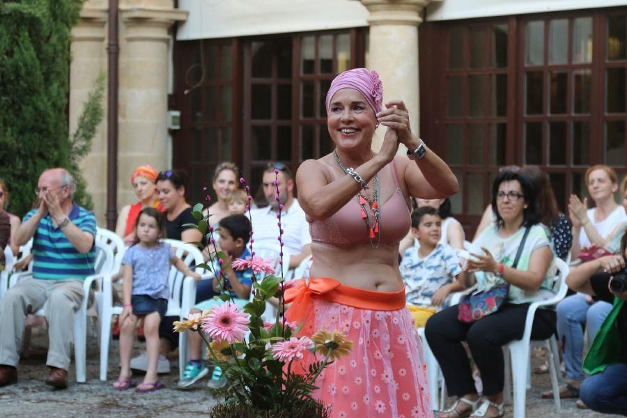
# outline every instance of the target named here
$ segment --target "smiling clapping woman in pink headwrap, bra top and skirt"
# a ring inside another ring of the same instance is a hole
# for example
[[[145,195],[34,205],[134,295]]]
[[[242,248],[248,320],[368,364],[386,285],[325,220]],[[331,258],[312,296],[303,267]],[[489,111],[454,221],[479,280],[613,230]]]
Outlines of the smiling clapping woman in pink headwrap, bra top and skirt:
[[[385,103],[376,72],[348,70],[331,83],[327,127],[335,149],[298,169],[299,201],[314,262],[307,284],[286,291],[286,318],[301,334],[338,330],[353,341],[316,380],[332,416],[431,417],[417,330],[405,307],[398,243],[410,229],[410,196],[457,191],[447,164],[412,134],[401,100]],[[376,127],[387,128],[373,152]],[[403,144],[410,152],[396,155]],[[348,371],[348,373],[347,373]]]

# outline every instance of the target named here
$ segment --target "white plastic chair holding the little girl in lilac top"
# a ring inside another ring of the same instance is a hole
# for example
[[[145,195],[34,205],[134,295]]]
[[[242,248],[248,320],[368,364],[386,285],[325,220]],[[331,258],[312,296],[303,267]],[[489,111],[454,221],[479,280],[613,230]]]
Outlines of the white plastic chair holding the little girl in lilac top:
[[[189,266],[204,263],[201,251],[191,244],[187,244],[178,240],[163,240],[174,249],[174,254],[183,260]],[[203,271],[202,268],[196,268],[196,272],[202,274],[203,279],[212,279],[213,274]],[[192,277],[185,277],[185,274],[176,270],[171,266],[168,275],[168,287],[170,289],[170,297],[168,300],[168,310],[166,316],[178,316],[183,320],[189,314],[190,309],[194,307],[196,301],[196,281]],[[122,313],[122,307],[113,304],[113,287],[111,276],[104,277],[102,287],[98,289],[102,296],[102,304],[98,306],[98,318],[100,318],[100,380],[107,380],[107,367],[109,365],[109,343],[111,342],[111,319],[114,315]],[[189,350],[187,347],[187,335],[181,332],[178,336],[178,362],[179,377],[183,378],[185,364],[189,359]]]

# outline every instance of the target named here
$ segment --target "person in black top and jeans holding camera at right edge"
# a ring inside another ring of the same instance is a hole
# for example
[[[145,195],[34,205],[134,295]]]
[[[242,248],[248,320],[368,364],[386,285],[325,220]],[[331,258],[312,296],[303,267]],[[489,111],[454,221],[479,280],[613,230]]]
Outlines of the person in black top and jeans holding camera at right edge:
[[[624,234],[619,255],[583,263],[566,277],[566,283],[573,290],[601,299],[610,306],[614,304],[607,316],[609,323],[603,324],[598,341],[594,341],[589,350],[592,358],[587,357],[584,362],[586,373],[592,376],[582,382],[579,391],[588,408],[603,414],[627,415],[627,308],[624,305],[627,291],[621,291],[617,277],[625,268],[626,247],[627,234]],[[603,357],[603,351],[614,358]]]

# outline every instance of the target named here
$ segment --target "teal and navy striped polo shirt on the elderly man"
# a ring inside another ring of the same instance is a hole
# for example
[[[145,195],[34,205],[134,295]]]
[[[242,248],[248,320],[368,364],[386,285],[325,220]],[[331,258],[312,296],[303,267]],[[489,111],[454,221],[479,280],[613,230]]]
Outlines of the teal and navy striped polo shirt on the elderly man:
[[[35,215],[37,209],[26,213],[24,222]],[[96,235],[95,216],[85,208],[72,202],[72,210],[68,218],[81,231]],[[94,239],[95,243],[95,239]],[[72,243],[65,238],[61,229],[52,223],[50,215],[39,222],[33,236],[33,277],[44,280],[84,279],[94,274],[95,245],[87,254],[81,254]]]

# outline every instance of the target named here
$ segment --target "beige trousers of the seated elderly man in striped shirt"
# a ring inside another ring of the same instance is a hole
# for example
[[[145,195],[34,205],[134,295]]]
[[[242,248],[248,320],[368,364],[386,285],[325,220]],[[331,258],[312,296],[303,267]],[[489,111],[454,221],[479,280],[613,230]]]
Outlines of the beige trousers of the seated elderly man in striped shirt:
[[[90,295],[90,300],[93,295]],[[26,315],[44,309],[48,323],[48,366],[68,370],[74,315],[83,300],[80,279],[24,279],[10,288],[0,301],[0,364],[17,367]]]

